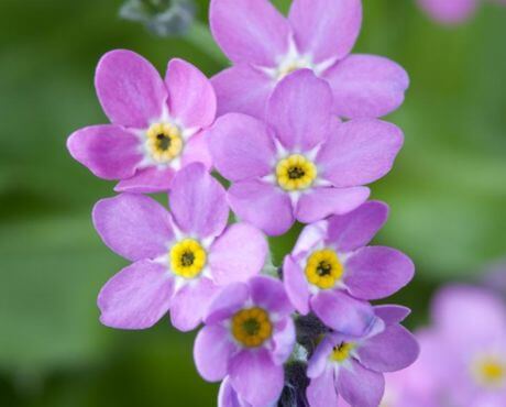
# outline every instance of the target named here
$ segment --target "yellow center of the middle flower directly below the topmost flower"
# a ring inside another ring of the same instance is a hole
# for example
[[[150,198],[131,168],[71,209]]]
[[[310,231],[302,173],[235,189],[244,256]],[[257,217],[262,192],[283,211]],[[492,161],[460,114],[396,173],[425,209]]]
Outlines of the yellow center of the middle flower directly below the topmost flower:
[[[294,154],[277,163],[277,184],[285,190],[300,190],[311,186],[317,167],[304,155]]]

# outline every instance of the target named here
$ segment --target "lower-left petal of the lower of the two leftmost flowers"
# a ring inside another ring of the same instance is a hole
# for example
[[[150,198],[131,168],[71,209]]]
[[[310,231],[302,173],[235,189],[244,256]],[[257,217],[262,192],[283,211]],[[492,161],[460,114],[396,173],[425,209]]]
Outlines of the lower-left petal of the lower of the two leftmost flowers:
[[[163,265],[133,263],[100,290],[100,321],[111,328],[151,328],[167,312],[173,290],[174,280]]]

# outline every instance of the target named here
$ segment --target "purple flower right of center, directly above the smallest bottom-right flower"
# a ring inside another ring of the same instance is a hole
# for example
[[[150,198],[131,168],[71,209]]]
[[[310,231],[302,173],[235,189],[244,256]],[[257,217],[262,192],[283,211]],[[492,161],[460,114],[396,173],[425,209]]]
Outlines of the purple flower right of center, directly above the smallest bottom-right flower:
[[[344,216],[307,226],[283,266],[285,288],[296,309],[312,310],[328,327],[360,336],[374,318],[365,300],[385,298],[413,278],[405,254],[367,246],[388,217],[370,201]]]

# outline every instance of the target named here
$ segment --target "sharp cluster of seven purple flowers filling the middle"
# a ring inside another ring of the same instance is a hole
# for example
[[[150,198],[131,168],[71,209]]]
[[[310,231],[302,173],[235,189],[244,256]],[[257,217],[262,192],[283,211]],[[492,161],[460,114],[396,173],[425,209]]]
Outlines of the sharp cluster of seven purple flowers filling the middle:
[[[209,80],[173,59],[162,79],[112,51],[96,73],[111,124],[68,140],[78,162],[119,180],[92,219],[132,264],[101,289],[101,322],[146,329],[169,314],[182,331],[204,324],[195,362],[222,381],[220,406],[375,407],[384,373],[418,355],[400,326],[409,310],[370,302],[414,275],[405,254],[370,245],[388,207],[366,187],[402,147],[377,117],[408,79],[386,58],[349,55],[361,14],[360,0],[294,0],[287,19],[267,0],[212,0],[232,68]],[[305,228],[276,268],[267,237],[296,221]]]

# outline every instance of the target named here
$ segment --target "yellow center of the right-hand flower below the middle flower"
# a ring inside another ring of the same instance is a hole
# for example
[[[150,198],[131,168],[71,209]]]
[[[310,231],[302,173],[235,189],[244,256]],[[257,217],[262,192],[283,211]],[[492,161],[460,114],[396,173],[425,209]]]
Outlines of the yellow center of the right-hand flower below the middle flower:
[[[341,279],[344,267],[330,249],[314,252],[306,263],[306,278],[318,288],[332,288]]]

